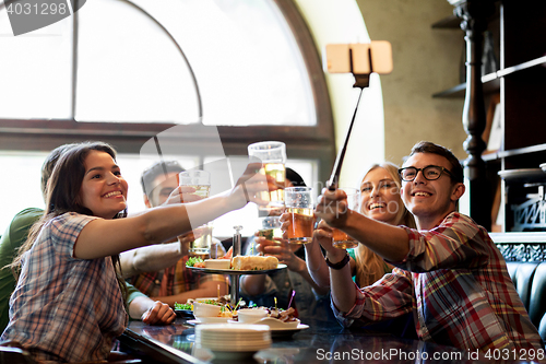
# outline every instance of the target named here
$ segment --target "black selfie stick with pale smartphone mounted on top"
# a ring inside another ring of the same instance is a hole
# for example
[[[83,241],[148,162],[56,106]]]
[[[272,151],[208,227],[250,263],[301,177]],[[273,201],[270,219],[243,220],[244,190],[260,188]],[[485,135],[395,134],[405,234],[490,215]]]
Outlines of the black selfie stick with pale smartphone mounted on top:
[[[353,119],[348,125],[345,140],[335,158],[332,175],[327,183],[328,189],[334,191],[340,183],[343,158],[347,151],[348,139],[351,138],[353,125],[355,124],[364,87],[369,86],[370,74],[372,72],[385,74],[392,71],[392,49],[391,44],[384,40],[372,42],[371,44],[327,45],[325,55],[325,66],[330,73],[351,72],[355,77],[355,84],[353,87],[360,89]]]

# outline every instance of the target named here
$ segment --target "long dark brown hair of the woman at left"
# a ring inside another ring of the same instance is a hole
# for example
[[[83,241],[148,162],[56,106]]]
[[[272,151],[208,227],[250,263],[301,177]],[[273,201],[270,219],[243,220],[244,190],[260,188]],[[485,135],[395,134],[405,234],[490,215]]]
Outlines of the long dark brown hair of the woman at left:
[[[46,210],[44,211],[44,215],[32,226],[28,238],[21,246],[17,256],[10,265],[15,277],[19,277],[21,271],[23,255],[33,247],[43,226],[49,221],[67,212],[93,215],[93,212],[82,204],[80,198],[80,190],[85,175],[84,162],[91,151],[108,153],[114,161],[116,161],[116,151],[114,148],[99,141],[71,144],[71,146],[62,153],[55,164],[51,176],[47,181]],[[124,216],[127,216],[127,210],[118,213],[114,219]],[[112,256],[111,259],[118,275],[118,284],[124,297],[127,294],[127,286],[121,279],[119,255]]]

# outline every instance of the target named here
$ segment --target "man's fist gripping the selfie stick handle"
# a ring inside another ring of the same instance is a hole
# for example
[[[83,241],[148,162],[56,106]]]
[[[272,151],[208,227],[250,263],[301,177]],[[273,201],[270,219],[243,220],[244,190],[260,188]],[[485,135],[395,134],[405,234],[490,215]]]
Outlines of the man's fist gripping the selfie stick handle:
[[[343,228],[349,211],[345,191],[341,189],[331,191],[323,188],[317,208],[314,209],[314,214],[325,221],[330,226]]]

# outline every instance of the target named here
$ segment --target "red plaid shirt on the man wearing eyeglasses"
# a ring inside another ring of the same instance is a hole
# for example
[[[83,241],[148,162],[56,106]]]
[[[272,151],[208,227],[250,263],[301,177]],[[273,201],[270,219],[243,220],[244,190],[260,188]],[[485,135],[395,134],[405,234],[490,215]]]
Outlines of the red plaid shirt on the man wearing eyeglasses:
[[[491,238],[471,218],[453,212],[418,232],[404,227],[410,253],[391,274],[357,290],[344,326],[371,324],[413,312],[419,339],[460,349],[543,348]],[[405,269],[402,270],[401,268]]]

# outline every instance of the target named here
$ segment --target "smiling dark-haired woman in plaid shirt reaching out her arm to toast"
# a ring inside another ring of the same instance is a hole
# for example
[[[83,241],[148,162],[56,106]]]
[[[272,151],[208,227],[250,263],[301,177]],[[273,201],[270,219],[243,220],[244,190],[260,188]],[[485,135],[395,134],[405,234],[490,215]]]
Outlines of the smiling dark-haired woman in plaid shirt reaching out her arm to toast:
[[[115,150],[103,142],[72,146],[57,162],[45,214],[13,263],[22,268],[1,339],[38,361],[106,360],[128,320],[112,263],[118,254],[187,233],[249,200],[262,203],[254,198],[268,189],[256,175],[260,167],[249,164],[223,195],[118,219],[126,215],[128,184]]]

